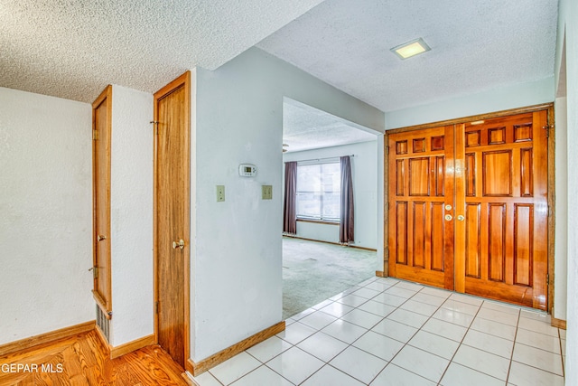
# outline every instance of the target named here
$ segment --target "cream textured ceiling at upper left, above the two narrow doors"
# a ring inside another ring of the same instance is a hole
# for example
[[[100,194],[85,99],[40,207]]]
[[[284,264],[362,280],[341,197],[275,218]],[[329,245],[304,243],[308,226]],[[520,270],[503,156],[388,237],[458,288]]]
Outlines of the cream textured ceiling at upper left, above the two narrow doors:
[[[322,0],[2,0],[0,86],[92,102],[214,70]]]

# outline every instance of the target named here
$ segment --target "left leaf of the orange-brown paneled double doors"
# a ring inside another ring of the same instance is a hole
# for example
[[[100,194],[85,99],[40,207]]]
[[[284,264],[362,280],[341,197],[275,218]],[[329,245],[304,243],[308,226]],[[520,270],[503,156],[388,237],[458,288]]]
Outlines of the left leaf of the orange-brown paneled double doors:
[[[444,221],[446,204],[453,213],[453,188],[446,173],[446,153],[453,151],[448,129],[452,127],[388,137],[393,181],[388,190],[388,243],[391,275],[452,288],[453,246],[445,241],[453,240],[452,227]]]

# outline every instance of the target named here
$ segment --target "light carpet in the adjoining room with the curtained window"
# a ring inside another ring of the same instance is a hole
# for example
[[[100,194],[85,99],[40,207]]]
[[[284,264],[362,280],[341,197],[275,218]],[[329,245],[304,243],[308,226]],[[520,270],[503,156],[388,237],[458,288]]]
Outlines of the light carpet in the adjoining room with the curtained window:
[[[283,238],[283,318],[376,274],[376,252]]]

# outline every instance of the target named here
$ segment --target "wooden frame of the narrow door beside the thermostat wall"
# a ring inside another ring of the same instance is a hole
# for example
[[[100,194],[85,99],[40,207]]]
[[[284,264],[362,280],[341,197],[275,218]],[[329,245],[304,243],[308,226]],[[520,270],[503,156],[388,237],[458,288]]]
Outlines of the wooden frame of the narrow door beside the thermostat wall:
[[[183,239],[191,240],[191,71],[186,71],[180,77],[172,82],[168,83],[162,89],[159,89],[154,93],[154,121],[158,119],[158,100],[162,99],[166,95],[170,94],[174,89],[183,85],[184,87],[184,110],[185,110],[185,152],[187,153],[186,159],[184,162],[186,163],[185,166],[185,175],[184,184],[185,184],[185,194],[184,196],[188,198],[186,202],[184,202],[184,233],[185,237]],[[159,315],[156,312],[157,308],[156,305],[159,301],[159,293],[158,293],[158,216],[157,216],[157,209],[158,209],[158,192],[157,192],[157,184],[158,184],[158,136],[156,135],[156,124],[153,124],[154,129],[154,180],[153,180],[153,275],[154,275],[154,305],[153,305],[153,315],[154,315],[154,342],[158,344],[159,342]],[[191,313],[191,241],[189,241],[189,245],[187,245],[183,249],[184,254],[184,275],[183,275],[183,282],[184,282],[184,362],[186,363],[187,360],[191,357],[191,348],[190,348],[190,313]]]

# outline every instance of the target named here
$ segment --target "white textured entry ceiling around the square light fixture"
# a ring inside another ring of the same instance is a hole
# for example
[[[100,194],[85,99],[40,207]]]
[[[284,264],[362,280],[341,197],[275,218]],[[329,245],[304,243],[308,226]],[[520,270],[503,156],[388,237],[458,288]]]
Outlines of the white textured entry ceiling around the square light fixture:
[[[557,0],[326,0],[258,47],[391,111],[553,76]],[[423,37],[432,51],[389,51]]]

